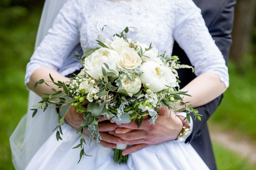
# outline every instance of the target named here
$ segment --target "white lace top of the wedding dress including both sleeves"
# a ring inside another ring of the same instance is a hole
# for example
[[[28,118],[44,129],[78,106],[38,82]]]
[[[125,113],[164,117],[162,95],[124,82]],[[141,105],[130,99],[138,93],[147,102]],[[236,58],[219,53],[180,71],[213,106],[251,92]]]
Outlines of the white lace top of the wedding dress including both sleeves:
[[[27,64],[25,83],[40,67],[53,68],[63,75],[78,70],[81,64],[69,55],[76,44],[81,42],[86,51],[98,46],[95,40],[99,37],[111,39],[126,26],[128,38],[151,42],[154,48],[169,55],[176,40],[196,75],[215,73],[229,85],[225,60],[192,0],[68,0]]]

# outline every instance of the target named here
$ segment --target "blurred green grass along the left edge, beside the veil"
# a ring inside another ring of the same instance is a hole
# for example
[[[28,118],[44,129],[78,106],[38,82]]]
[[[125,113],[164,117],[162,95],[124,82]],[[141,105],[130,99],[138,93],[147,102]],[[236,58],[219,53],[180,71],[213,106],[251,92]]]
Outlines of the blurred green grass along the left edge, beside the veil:
[[[0,9],[0,170],[14,170],[9,137],[27,110],[25,68],[34,51],[42,7]]]

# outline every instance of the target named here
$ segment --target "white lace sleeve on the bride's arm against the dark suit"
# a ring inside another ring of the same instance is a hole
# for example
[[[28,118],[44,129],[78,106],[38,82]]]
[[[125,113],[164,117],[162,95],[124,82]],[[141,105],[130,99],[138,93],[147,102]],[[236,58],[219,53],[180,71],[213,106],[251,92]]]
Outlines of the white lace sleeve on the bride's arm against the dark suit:
[[[176,7],[174,38],[188,55],[195,75],[214,73],[228,87],[225,60],[205,26],[200,9],[191,0],[176,0]]]

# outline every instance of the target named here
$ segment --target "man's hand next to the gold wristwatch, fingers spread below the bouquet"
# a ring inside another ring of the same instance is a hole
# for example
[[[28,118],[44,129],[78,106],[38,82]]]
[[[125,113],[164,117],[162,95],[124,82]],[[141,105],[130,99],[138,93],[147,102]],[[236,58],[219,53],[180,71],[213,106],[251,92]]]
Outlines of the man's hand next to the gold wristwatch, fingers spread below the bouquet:
[[[144,119],[138,129],[138,122],[132,121],[129,124],[119,124],[115,131],[110,134],[122,139],[122,144],[132,145],[123,151],[123,155],[145,148],[153,144],[161,144],[166,141],[177,139],[182,130],[182,121],[169,110],[161,108],[158,112],[155,124],[149,124],[149,119]]]

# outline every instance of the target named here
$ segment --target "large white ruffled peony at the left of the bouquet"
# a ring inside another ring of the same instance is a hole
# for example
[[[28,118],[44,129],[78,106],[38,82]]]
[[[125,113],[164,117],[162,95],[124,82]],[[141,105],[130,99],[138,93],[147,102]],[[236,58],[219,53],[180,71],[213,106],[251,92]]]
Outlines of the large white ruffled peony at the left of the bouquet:
[[[119,54],[115,50],[102,47],[85,58],[85,70],[94,79],[99,79],[99,76],[102,75],[101,66],[106,69],[103,63],[108,64],[110,69],[117,69],[118,56]]]

